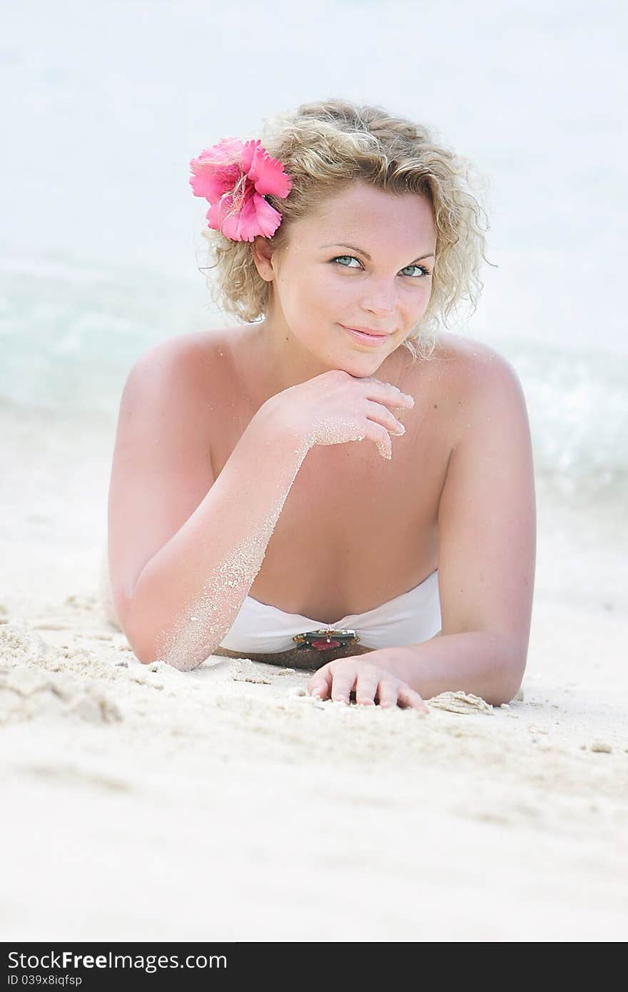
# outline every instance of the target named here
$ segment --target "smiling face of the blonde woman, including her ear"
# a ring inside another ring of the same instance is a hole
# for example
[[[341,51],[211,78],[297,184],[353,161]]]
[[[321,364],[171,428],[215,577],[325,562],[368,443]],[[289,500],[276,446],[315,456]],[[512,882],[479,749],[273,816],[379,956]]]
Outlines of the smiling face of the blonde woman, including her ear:
[[[293,222],[284,248],[256,251],[273,284],[266,324],[313,367],[371,375],[428,307],[436,243],[425,196],[354,183]],[[370,343],[349,327],[384,336]]]

